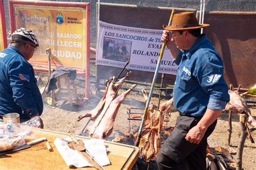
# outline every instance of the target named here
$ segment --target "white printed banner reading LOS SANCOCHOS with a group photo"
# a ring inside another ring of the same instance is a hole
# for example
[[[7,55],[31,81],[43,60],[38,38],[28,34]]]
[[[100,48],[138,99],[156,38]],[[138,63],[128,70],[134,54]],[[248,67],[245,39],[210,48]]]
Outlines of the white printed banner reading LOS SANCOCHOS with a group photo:
[[[160,40],[162,32],[100,21],[96,64],[123,67],[129,61],[128,69],[154,72],[163,45]],[[167,46],[159,73],[177,73],[177,65],[173,63]]]

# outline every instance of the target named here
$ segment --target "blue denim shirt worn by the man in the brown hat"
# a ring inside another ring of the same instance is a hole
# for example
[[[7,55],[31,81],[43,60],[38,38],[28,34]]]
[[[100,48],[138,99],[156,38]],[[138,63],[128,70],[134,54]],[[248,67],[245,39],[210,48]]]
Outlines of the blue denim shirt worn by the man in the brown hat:
[[[230,100],[224,79],[223,59],[206,35],[190,50],[181,50],[174,63],[178,65],[173,88],[174,107],[185,115],[199,117],[207,107],[223,110]]]

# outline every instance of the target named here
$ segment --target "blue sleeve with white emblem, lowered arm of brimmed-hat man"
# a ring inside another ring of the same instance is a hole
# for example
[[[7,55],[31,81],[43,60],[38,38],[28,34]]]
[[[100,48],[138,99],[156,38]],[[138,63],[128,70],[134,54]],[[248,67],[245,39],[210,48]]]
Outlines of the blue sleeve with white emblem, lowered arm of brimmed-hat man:
[[[203,58],[196,66],[201,88],[210,95],[208,108],[223,110],[230,100],[228,86],[224,79],[223,60],[215,51],[203,51]]]

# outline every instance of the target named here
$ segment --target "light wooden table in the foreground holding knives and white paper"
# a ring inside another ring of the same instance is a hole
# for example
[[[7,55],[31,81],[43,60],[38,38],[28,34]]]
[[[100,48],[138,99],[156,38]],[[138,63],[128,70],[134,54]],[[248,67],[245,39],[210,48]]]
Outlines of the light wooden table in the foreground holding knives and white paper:
[[[62,156],[53,144],[56,138],[69,137],[66,133],[53,132],[34,128],[32,130],[36,138],[46,137],[53,148],[53,152],[48,149],[36,151],[36,148],[46,146],[45,142],[32,145],[30,148],[0,155],[1,169],[70,169],[64,162]],[[83,140],[90,138],[76,136]],[[116,142],[104,141],[104,144],[110,152],[107,157],[110,159],[111,165],[104,166],[105,169],[131,169],[136,163],[139,155],[139,148],[130,145],[119,144]],[[72,167],[72,169],[75,167]],[[92,167],[75,168],[75,169],[95,169]]]

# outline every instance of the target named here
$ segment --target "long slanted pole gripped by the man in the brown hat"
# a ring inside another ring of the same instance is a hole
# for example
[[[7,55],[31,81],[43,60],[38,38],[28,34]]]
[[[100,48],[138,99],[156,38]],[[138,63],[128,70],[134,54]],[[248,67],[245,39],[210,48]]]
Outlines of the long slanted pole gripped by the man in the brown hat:
[[[175,12],[175,10],[173,9],[172,13],[171,13],[171,16],[170,16],[170,19],[169,19],[168,25],[170,25],[171,22],[172,22],[174,12]],[[147,109],[149,108],[149,104],[150,104],[151,97],[152,97],[152,94],[153,94],[154,84],[156,84],[157,74],[158,74],[158,71],[159,71],[159,67],[161,65],[161,60],[163,58],[165,46],[166,46],[166,42],[164,42],[163,46],[161,47],[160,55],[159,55],[158,62],[157,62],[156,71],[154,72],[154,77],[153,77],[153,81],[152,81],[152,84],[151,84],[149,99],[147,99],[146,107],[145,107],[145,110],[144,110],[144,113],[143,113],[143,116],[142,116],[142,123],[140,124],[140,127],[139,127],[138,138],[136,139],[135,146],[139,146],[140,138],[142,138],[142,128],[143,128],[145,120],[146,120]]]

